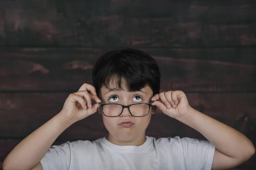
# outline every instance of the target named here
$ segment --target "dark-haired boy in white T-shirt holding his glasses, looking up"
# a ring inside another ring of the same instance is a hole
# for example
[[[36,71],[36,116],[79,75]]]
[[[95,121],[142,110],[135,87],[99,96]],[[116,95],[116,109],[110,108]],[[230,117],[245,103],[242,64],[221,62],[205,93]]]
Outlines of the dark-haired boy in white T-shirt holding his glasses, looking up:
[[[93,68],[93,86],[85,83],[70,94],[60,113],[9,153],[3,170],[210,170],[236,167],[253,156],[247,137],[193,109],[183,91],[159,90],[160,71],[148,54],[104,54]],[[145,136],[156,108],[209,141]],[[107,137],[50,147],[67,127],[96,111]]]

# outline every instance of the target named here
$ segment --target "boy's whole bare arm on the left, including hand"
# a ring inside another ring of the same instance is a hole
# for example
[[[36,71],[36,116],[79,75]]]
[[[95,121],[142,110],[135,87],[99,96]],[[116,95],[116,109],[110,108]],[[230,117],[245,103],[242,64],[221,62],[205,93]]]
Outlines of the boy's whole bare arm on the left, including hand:
[[[23,139],[9,153],[3,162],[3,170],[40,170],[40,161],[57,137],[73,123],[97,111],[99,103],[91,106],[91,99],[100,102],[95,88],[84,83],[78,92],[68,96],[60,113]]]

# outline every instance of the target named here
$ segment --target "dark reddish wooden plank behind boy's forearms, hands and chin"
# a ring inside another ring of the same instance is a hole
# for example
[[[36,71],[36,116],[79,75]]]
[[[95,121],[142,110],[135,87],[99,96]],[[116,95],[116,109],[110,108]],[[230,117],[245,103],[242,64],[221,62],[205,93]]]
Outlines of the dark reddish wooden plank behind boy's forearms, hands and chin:
[[[61,111],[68,95],[68,93],[1,93],[0,138],[22,139],[28,136]],[[254,138],[255,135],[251,131],[255,132],[256,128],[251,128],[256,125],[256,93],[188,93],[187,96],[193,108]],[[102,116],[95,113],[73,124],[58,139],[97,139],[106,134]],[[152,115],[148,135],[202,137],[197,131],[160,111]]]

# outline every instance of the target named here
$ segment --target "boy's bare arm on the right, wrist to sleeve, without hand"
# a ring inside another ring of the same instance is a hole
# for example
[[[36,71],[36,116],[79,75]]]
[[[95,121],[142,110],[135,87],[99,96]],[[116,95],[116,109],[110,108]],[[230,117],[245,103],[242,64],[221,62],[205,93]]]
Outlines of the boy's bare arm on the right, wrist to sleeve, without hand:
[[[252,142],[242,133],[194,108],[177,120],[197,130],[216,147],[213,170],[236,167],[255,153]]]

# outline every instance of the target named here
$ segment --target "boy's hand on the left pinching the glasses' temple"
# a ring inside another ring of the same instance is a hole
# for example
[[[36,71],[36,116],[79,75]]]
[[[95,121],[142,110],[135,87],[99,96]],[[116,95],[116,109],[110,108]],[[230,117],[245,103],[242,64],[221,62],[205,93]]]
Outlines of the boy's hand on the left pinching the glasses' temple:
[[[90,91],[90,94],[87,91]],[[97,102],[93,106],[91,106],[91,99]],[[92,85],[84,83],[79,88],[79,91],[67,97],[61,114],[64,114],[67,119],[77,122],[95,113],[99,107],[99,102],[100,99],[96,94],[95,88]]]

